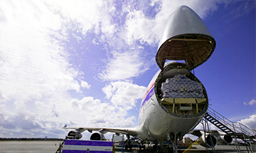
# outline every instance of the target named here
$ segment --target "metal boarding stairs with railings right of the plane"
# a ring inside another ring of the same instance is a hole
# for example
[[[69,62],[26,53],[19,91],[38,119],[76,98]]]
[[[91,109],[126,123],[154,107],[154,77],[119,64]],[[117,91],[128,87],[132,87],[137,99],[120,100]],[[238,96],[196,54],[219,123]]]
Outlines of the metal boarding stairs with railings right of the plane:
[[[238,150],[239,145],[237,139],[241,139],[245,142],[247,147],[247,151],[252,151],[252,144],[256,144],[256,132],[247,128],[242,123],[233,123],[232,121],[225,118],[220,113],[214,111],[212,108],[208,108],[208,111],[204,115],[204,118],[208,120],[210,123],[215,125],[217,128],[225,132],[227,135],[233,135],[235,137],[235,142]]]

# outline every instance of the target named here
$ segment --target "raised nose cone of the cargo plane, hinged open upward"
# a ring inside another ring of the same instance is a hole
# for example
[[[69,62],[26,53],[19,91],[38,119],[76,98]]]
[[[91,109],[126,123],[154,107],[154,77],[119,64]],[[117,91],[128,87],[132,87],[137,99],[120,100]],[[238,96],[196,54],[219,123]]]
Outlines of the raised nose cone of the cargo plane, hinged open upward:
[[[215,40],[202,19],[188,6],[179,6],[169,17],[156,52],[156,63],[163,69],[166,60],[185,60],[191,69],[208,60]]]

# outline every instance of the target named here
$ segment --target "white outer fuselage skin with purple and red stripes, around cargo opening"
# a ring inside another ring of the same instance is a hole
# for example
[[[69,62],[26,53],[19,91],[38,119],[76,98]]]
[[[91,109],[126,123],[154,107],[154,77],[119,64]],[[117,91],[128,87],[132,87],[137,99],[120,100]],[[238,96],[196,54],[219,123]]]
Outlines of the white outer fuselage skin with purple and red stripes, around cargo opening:
[[[180,118],[166,113],[159,105],[154,92],[154,84],[159,73],[149,83],[146,94],[139,108],[139,126],[137,137],[142,140],[165,139],[168,133],[181,133],[185,135],[200,123],[203,115],[195,118]]]

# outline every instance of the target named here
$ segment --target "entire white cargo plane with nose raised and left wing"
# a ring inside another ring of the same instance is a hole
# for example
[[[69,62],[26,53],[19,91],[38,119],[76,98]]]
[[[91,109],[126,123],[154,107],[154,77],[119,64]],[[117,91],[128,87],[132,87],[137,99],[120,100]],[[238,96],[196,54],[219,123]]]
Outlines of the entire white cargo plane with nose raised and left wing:
[[[201,18],[188,6],[179,6],[169,17],[156,52],[156,72],[139,108],[135,128],[67,128],[68,137],[80,139],[85,130],[90,140],[105,140],[106,132],[132,135],[142,141],[166,140],[177,152],[177,141],[201,122],[208,110],[208,96],[192,70],[206,62],[215,40]],[[175,60],[184,62],[168,62]],[[214,137],[213,137],[214,138]],[[206,141],[206,140],[205,140]],[[217,140],[216,140],[217,141]]]

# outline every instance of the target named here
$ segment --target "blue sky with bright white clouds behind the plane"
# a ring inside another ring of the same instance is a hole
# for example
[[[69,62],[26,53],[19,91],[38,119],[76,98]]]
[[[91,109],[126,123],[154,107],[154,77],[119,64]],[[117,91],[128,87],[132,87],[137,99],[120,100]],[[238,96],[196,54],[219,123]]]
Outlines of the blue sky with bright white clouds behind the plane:
[[[210,108],[256,129],[255,1],[0,0],[0,137],[137,126],[167,18],[181,5],[216,41],[195,69]]]

